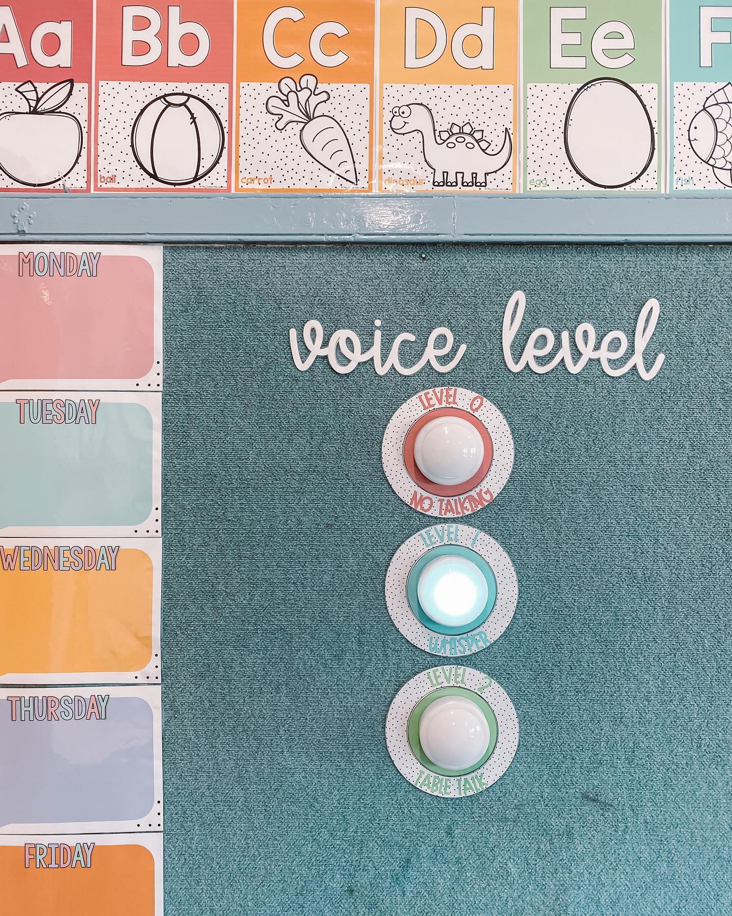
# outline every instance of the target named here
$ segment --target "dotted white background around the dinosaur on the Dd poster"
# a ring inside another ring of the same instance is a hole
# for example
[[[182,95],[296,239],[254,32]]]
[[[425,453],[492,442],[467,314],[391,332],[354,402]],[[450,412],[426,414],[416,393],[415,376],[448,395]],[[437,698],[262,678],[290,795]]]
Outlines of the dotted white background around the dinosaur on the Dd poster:
[[[419,102],[427,105],[435,119],[437,133],[450,125],[469,122],[482,130],[490,141],[489,153],[501,149],[506,128],[516,143],[513,131],[513,86],[404,86],[386,83],[383,87],[382,188],[384,191],[432,191],[432,170],[422,150],[422,138],[416,134],[395,134],[389,127],[392,109]],[[511,160],[512,161],[512,160]],[[482,191],[511,191],[511,162],[488,176]],[[455,191],[455,189],[447,189]],[[476,189],[470,189],[475,191]]]

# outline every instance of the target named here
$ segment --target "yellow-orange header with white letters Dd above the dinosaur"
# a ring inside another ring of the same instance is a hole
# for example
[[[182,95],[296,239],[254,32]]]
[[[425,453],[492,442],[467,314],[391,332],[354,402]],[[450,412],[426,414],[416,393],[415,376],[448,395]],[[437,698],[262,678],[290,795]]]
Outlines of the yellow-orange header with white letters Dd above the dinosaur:
[[[382,82],[518,82],[519,0],[382,0],[380,31]]]

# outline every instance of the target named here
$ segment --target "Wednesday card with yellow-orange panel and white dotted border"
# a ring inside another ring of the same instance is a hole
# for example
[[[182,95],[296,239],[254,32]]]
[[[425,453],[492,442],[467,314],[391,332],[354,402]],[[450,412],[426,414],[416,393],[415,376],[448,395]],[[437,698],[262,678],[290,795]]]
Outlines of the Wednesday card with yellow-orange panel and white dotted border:
[[[0,539],[0,682],[159,683],[160,539]]]

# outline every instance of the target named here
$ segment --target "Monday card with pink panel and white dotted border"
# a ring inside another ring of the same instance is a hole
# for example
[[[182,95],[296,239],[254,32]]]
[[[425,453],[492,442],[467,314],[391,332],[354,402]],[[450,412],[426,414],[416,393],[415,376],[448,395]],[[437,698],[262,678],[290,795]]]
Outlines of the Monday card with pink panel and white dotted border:
[[[159,245],[4,245],[0,388],[163,385]]]

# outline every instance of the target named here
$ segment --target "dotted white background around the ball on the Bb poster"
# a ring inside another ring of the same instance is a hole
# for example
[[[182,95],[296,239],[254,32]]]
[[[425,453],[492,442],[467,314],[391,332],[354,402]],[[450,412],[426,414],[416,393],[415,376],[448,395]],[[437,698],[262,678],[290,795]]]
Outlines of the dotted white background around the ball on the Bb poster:
[[[132,128],[145,105],[160,95],[187,93],[198,96],[219,116],[224,132],[224,149],[219,164],[204,178],[185,187],[224,189],[228,183],[229,85],[225,82],[100,82],[97,134],[97,169],[102,190],[114,188],[155,188],[175,190],[156,181],[140,168],[132,151]],[[221,134],[212,136],[217,143]],[[203,142],[203,141],[202,141]],[[100,180],[103,176],[104,180]],[[113,180],[109,180],[113,179]]]

